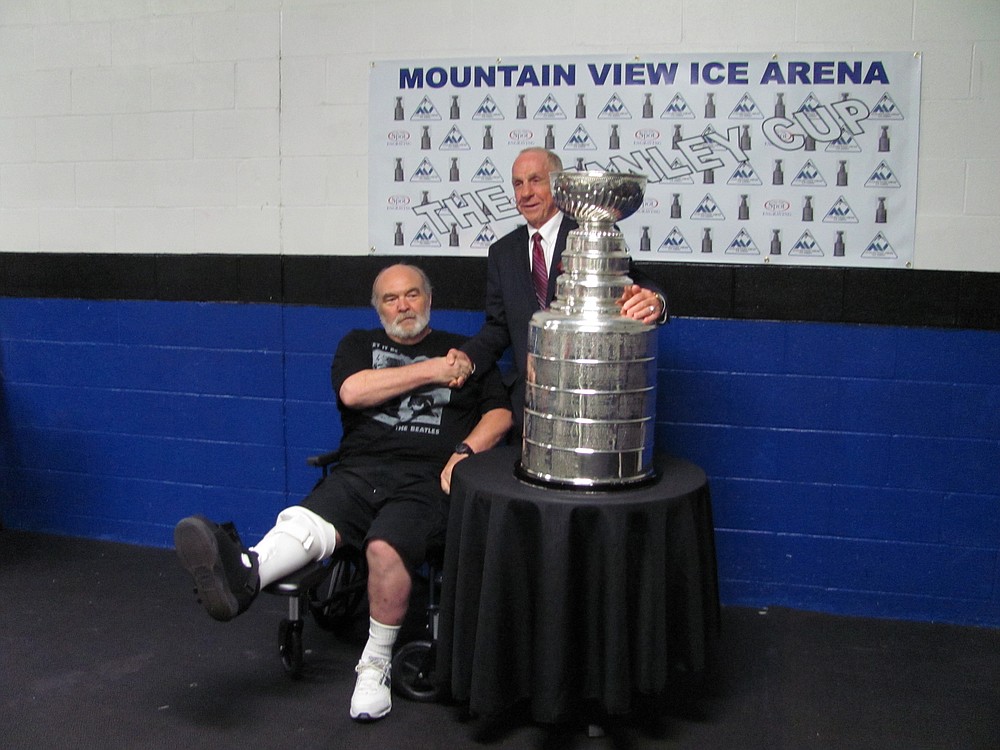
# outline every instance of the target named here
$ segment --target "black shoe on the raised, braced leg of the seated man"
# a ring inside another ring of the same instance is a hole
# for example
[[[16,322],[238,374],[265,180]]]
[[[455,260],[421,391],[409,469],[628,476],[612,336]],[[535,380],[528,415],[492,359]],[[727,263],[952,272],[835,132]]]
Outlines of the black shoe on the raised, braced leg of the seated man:
[[[174,546],[198,601],[216,620],[233,619],[257,597],[257,553],[243,546],[233,524],[188,516],[174,527]]]

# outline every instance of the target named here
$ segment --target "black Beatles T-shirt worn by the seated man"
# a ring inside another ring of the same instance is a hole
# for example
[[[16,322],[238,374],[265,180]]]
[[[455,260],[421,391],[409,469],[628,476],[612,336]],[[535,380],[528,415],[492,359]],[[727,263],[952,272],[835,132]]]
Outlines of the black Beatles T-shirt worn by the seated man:
[[[464,341],[464,336],[435,330],[414,345],[397,344],[380,328],[344,336],[331,367],[344,428],[341,460],[423,461],[443,467],[483,414],[509,409],[496,368],[470,378],[462,388],[429,385],[369,409],[350,409],[340,402],[340,386],[357,372],[441,357]]]

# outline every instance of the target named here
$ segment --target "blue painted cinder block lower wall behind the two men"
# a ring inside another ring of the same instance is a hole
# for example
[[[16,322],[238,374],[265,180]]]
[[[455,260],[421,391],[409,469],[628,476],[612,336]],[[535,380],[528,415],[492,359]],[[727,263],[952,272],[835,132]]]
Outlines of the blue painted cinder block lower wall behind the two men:
[[[475,332],[481,312],[434,324]],[[255,540],[340,425],[368,308],[0,298],[5,527]],[[1000,626],[1000,332],[675,318],[658,446],[702,465],[724,603]]]

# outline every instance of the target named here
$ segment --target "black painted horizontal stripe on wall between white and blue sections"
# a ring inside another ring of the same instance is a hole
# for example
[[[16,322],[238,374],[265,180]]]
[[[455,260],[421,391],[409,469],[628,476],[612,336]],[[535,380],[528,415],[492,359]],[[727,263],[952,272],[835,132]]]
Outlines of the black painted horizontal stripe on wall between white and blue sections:
[[[379,269],[422,266],[440,308],[479,310],[485,258],[0,253],[0,296],[368,304]],[[1000,330],[1000,274],[639,263],[675,315]]]

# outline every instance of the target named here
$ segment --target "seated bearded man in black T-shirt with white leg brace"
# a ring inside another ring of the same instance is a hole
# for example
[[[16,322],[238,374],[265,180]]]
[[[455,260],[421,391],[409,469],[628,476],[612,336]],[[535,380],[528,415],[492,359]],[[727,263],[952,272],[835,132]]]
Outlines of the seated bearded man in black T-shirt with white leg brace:
[[[231,523],[181,520],[174,544],[199,600],[216,620],[246,611],[262,587],[346,544],[368,563],[369,638],[355,671],[351,717],[392,708],[392,648],[409,606],[414,571],[442,544],[455,464],[496,445],[511,427],[494,370],[464,388],[464,338],[430,327],[431,286],[415,266],[384,269],[372,285],[382,329],[354,330],[331,368],[343,425],[340,459],[301,502],[278,514],[256,545]]]

